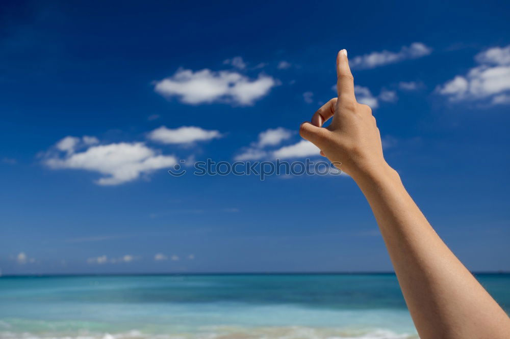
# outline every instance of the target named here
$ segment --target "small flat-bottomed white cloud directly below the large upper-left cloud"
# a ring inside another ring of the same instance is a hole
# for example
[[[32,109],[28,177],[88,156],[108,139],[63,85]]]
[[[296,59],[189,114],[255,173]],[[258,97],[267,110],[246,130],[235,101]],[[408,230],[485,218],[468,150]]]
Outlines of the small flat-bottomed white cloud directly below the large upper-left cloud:
[[[182,126],[175,129],[161,126],[147,136],[150,140],[162,144],[190,144],[197,141],[220,138],[221,133],[217,130],[205,130],[195,126]]]

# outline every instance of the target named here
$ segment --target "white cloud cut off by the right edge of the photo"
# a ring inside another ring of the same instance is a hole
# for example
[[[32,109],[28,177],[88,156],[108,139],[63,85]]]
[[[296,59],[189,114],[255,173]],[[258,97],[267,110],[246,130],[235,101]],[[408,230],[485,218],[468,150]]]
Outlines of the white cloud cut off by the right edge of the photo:
[[[510,45],[494,47],[475,56],[480,64],[466,75],[457,75],[437,88],[450,101],[486,101],[508,104],[510,94]]]

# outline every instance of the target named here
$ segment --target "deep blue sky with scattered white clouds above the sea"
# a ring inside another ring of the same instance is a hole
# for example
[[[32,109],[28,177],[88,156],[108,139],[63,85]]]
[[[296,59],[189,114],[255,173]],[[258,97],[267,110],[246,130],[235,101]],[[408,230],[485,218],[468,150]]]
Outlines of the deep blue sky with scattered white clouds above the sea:
[[[167,173],[319,159],[297,129],[342,48],[429,221],[469,269],[510,270],[509,7],[6,2],[2,273],[391,270],[347,176]]]

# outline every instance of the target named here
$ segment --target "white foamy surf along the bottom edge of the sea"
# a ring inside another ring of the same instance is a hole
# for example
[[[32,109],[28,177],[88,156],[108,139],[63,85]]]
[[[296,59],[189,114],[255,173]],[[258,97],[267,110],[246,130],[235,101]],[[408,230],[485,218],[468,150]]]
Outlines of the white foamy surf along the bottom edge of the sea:
[[[131,330],[119,333],[104,332],[0,332],[0,339],[416,339],[418,336],[395,333],[388,329],[339,329],[302,326],[240,327],[215,326],[199,328],[196,332],[144,333]]]

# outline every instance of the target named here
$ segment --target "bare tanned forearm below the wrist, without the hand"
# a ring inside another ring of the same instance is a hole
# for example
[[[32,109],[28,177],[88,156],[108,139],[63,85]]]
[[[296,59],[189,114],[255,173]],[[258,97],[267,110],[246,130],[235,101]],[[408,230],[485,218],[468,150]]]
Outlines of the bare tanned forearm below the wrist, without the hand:
[[[503,338],[509,320],[432,229],[398,174],[353,176],[365,194],[422,338]]]

